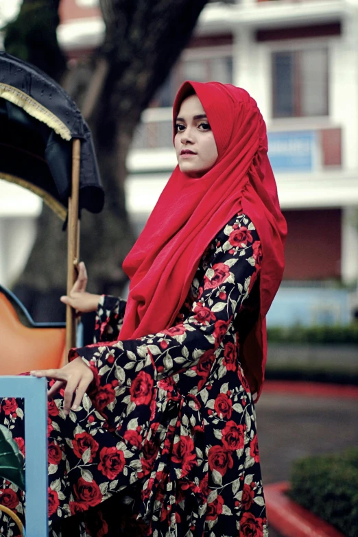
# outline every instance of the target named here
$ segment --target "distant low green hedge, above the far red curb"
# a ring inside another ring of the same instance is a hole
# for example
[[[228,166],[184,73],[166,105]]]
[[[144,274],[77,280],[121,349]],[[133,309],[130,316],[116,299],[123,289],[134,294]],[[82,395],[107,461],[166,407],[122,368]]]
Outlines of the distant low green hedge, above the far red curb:
[[[289,326],[267,329],[272,343],[358,344],[358,323],[346,326]]]

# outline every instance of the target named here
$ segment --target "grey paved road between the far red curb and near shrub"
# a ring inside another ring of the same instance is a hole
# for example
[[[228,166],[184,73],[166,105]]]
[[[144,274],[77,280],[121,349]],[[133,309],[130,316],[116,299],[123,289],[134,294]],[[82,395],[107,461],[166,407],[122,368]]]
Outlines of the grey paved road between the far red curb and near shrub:
[[[357,399],[265,394],[264,388],[256,416],[264,486],[288,480],[298,457],[358,446]],[[270,537],[281,536],[270,527]]]

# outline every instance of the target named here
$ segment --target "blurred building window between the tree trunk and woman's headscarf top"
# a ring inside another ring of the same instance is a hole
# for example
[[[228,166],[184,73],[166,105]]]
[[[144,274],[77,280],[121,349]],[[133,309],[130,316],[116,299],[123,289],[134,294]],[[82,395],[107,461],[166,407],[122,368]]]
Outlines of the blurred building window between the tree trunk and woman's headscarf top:
[[[231,56],[208,58],[203,55],[202,58],[179,61],[150,106],[173,106],[176,93],[185,80],[196,82],[217,80],[223,84],[232,84],[232,58]]]

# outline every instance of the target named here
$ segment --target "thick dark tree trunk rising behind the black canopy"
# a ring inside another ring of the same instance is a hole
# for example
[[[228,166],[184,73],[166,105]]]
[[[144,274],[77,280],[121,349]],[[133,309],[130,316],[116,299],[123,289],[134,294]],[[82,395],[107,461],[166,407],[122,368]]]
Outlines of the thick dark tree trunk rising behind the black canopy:
[[[24,0],[23,6],[25,3],[32,2]],[[97,95],[90,105],[92,95],[83,95],[78,88],[74,91],[77,104],[84,103],[88,109],[86,119],[93,132],[106,192],[102,214],[82,214],[80,257],[87,265],[89,291],[118,295],[126,282],[121,264],[134,242],[123,190],[126,156],[141,112],[187,45],[205,3],[100,1],[106,36],[91,64],[95,70],[98,62],[106,62],[104,80],[95,84]],[[7,34],[8,51],[9,39]],[[67,243],[61,228],[55,215],[44,207],[34,248],[15,288],[38,321],[64,318],[58,298],[65,291]]]

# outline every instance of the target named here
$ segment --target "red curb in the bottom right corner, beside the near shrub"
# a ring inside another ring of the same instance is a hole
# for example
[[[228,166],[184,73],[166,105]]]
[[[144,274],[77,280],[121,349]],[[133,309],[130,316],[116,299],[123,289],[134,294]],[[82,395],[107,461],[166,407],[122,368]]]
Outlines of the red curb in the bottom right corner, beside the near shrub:
[[[287,481],[265,485],[267,520],[285,537],[344,537],[331,524],[322,521],[285,494]]]

